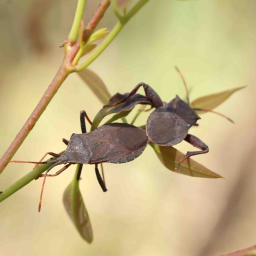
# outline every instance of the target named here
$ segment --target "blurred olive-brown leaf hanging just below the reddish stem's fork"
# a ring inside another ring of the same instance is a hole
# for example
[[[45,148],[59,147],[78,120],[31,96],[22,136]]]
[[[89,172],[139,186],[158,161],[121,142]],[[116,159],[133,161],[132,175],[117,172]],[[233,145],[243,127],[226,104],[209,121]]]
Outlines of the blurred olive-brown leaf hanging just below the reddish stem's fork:
[[[108,89],[102,79],[89,70],[88,68],[82,70],[81,72],[77,73],[81,79],[89,86],[92,92],[98,97],[98,99],[103,103],[106,104],[110,99],[111,95],[108,92]]]

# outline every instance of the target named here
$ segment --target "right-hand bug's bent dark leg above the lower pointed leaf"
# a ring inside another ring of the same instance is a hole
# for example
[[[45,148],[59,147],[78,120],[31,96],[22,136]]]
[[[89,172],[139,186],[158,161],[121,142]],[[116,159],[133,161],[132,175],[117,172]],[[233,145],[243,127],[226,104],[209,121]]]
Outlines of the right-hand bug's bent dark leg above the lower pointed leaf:
[[[206,154],[209,152],[209,147],[207,145],[205,145],[205,143],[202,140],[199,140],[196,136],[188,134],[186,136],[186,138],[184,138],[184,140],[186,140],[188,143],[190,143],[194,147],[201,149],[202,151],[193,151],[193,152],[188,151],[186,156],[184,156],[182,159],[180,159],[177,167],[175,168],[176,170],[179,168],[180,163],[182,163],[189,157],[195,156],[195,155],[200,155],[200,154]]]

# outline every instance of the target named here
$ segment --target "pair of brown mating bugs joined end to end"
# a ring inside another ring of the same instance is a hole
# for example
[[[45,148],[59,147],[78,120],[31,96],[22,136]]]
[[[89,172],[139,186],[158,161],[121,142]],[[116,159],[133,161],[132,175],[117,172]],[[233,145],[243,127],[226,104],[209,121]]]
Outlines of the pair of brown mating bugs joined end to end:
[[[183,77],[182,80],[184,81]],[[81,111],[80,119],[82,134],[72,134],[70,141],[63,139],[63,142],[67,145],[67,150],[65,150],[63,155],[48,152],[47,154],[57,158],[52,161],[41,160],[40,162],[11,161],[15,163],[53,163],[52,166],[46,170],[45,174],[39,176],[44,177],[44,182],[42,185],[38,210],[40,211],[46,177],[59,175],[71,164],[95,164],[95,172],[99,184],[103,191],[107,191],[104,180],[102,180],[102,177],[100,176],[98,164],[127,163],[132,161],[141,155],[143,150],[147,147],[148,141],[156,143],[157,145],[169,147],[177,145],[182,140],[185,140],[201,150],[187,152],[186,156],[180,159],[176,169],[179,168],[180,163],[189,157],[209,152],[209,148],[204,142],[195,136],[188,134],[188,130],[193,125],[197,125],[196,122],[200,119],[195,110],[207,110],[193,109],[189,106],[188,89],[186,83],[184,83],[184,85],[187,92],[187,103],[176,96],[175,99],[168,104],[164,104],[159,95],[145,83],[138,84],[131,93],[128,93],[125,97],[122,97],[122,99],[118,101],[115,100],[115,102],[113,102],[113,100],[109,101],[111,104],[107,105],[108,107],[118,106],[131,99],[132,95],[135,95],[138,89],[143,86],[145,91],[144,98],[150,102],[153,108],[156,108],[148,116],[146,130],[135,127],[134,125],[114,123],[102,125],[94,131],[86,133],[84,117],[86,117],[90,124],[92,124],[92,122],[90,122],[85,111]],[[140,96],[143,97],[142,95]],[[115,97],[112,99],[114,98]],[[45,154],[45,156],[47,154]],[[60,164],[66,165],[54,175],[48,174],[52,168]]]

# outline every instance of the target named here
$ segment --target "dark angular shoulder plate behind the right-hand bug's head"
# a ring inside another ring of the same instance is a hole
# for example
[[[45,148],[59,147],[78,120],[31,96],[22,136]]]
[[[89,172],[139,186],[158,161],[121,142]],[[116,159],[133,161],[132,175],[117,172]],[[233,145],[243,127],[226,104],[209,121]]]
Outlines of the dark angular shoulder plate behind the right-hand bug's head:
[[[196,124],[196,121],[200,119],[200,116],[196,115],[194,109],[190,108],[189,104],[180,99],[178,95],[167,106],[168,111],[177,114],[189,125]]]

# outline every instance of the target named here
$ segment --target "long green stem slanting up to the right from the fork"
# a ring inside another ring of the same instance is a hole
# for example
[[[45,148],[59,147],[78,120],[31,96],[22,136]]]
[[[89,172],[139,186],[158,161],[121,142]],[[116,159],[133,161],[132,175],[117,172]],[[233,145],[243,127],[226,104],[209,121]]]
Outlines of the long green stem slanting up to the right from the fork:
[[[84,68],[88,67],[94,60],[96,60],[99,55],[108,47],[108,45],[114,40],[114,38],[118,35],[118,33],[124,28],[124,25],[127,23],[131,17],[136,14],[140,8],[146,4],[149,0],[141,0],[132,10],[125,16],[125,19],[122,21],[118,21],[115,27],[111,30],[111,32],[108,34],[106,39],[95,49],[95,51],[92,52],[92,54],[82,63],[77,64],[75,66],[75,71],[79,72],[83,70]]]

